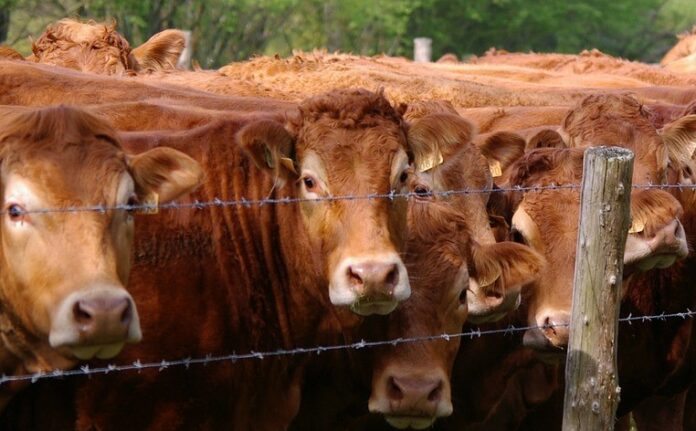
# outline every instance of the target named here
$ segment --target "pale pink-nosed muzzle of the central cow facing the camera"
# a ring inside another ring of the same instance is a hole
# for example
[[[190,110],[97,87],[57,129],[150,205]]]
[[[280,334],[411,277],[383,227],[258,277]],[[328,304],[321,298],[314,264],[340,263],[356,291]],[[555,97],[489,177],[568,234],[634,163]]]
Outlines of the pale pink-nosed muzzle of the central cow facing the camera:
[[[329,284],[331,303],[361,316],[389,314],[410,295],[406,267],[396,253],[343,259]]]

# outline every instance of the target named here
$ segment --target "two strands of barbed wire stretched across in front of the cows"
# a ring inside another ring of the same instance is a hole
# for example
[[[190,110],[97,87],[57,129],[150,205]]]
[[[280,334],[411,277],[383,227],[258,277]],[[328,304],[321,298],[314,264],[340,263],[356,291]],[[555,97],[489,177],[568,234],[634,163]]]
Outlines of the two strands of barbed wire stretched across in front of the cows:
[[[633,189],[647,190],[647,189],[661,189],[661,190],[696,190],[696,184],[634,184],[631,186]],[[452,196],[462,196],[462,195],[475,195],[475,194],[488,194],[488,193],[505,193],[505,192],[521,192],[521,193],[539,193],[544,191],[558,191],[558,190],[579,190],[581,188],[580,184],[560,184],[560,185],[546,185],[546,186],[529,186],[529,187],[503,187],[503,188],[491,188],[491,189],[458,189],[458,190],[446,190],[446,191],[428,191],[426,193],[384,193],[384,194],[368,194],[368,195],[342,195],[342,196],[325,196],[318,198],[291,198],[291,197],[281,197],[281,198],[266,198],[266,199],[236,199],[236,200],[224,200],[214,198],[209,201],[194,201],[185,203],[164,203],[164,204],[123,204],[123,205],[84,205],[84,206],[66,206],[60,208],[34,208],[34,209],[23,209],[21,214],[50,214],[50,213],[81,213],[81,212],[107,212],[115,210],[124,211],[154,211],[154,210],[182,210],[182,209],[206,209],[214,207],[252,207],[252,206],[264,206],[264,205],[287,205],[296,204],[302,202],[333,202],[341,200],[371,200],[371,199],[396,199],[396,198],[422,198],[424,196],[442,196],[442,197],[452,197]],[[428,202],[428,201],[424,201]],[[0,214],[6,214],[8,210],[0,211]],[[631,325],[634,322],[652,322],[652,321],[667,321],[669,319],[691,319],[696,316],[696,311],[692,311],[687,308],[682,312],[665,313],[653,315],[640,315],[633,316],[629,314],[628,316],[621,317],[618,319],[620,323]],[[66,377],[76,377],[76,376],[93,376],[93,375],[106,375],[110,373],[136,371],[141,372],[143,370],[155,369],[159,372],[164,370],[183,367],[189,369],[193,365],[208,365],[214,363],[230,362],[235,363],[237,361],[245,360],[264,360],[274,357],[285,357],[285,356],[296,356],[296,355],[308,355],[316,354],[320,355],[324,352],[338,351],[338,350],[360,350],[369,349],[384,346],[398,346],[404,344],[412,343],[422,343],[422,342],[432,342],[432,341],[451,341],[453,339],[474,339],[483,336],[491,335],[510,335],[517,332],[524,332],[527,330],[534,329],[549,329],[555,327],[569,327],[570,324],[547,324],[543,326],[531,325],[531,326],[514,326],[509,325],[505,328],[495,328],[495,329],[470,329],[463,332],[457,333],[444,333],[444,334],[434,334],[434,335],[423,335],[416,337],[402,337],[394,338],[388,340],[377,340],[377,341],[366,341],[364,339],[345,344],[336,345],[318,345],[318,346],[307,346],[307,347],[297,347],[292,349],[277,349],[270,351],[249,351],[246,353],[230,353],[226,355],[207,355],[205,357],[186,357],[178,359],[162,359],[158,362],[141,362],[136,360],[130,364],[109,364],[100,367],[90,367],[89,365],[82,365],[75,369],[69,370],[51,370],[45,372],[37,372],[30,374],[17,374],[17,375],[2,375],[0,376],[0,386],[8,384],[10,382],[31,382],[35,383],[40,380],[46,379],[60,379]]]

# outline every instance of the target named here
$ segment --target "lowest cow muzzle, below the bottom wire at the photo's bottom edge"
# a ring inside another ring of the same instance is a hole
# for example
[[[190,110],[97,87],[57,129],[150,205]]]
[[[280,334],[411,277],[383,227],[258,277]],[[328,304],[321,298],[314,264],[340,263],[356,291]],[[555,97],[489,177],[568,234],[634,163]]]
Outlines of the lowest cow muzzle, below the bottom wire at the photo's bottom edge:
[[[452,414],[449,379],[440,369],[385,372],[375,380],[368,407],[394,428],[428,428],[437,418]]]

